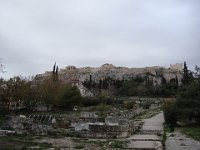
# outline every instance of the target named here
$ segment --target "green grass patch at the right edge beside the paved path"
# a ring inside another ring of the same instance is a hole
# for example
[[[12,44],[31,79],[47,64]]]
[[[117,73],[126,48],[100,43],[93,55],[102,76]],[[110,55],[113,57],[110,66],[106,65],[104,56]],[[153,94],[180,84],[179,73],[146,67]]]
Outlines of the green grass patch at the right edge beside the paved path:
[[[198,127],[182,127],[182,128],[180,128],[180,131],[183,134],[185,134],[195,140],[200,141],[200,126],[198,126]]]

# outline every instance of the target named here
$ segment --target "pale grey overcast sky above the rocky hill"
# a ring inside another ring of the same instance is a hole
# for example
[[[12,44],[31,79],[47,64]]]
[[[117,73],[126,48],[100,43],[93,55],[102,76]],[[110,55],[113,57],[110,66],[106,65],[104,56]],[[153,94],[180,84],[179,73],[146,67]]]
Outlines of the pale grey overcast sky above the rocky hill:
[[[200,0],[0,0],[0,58],[29,76],[57,62],[200,65]]]

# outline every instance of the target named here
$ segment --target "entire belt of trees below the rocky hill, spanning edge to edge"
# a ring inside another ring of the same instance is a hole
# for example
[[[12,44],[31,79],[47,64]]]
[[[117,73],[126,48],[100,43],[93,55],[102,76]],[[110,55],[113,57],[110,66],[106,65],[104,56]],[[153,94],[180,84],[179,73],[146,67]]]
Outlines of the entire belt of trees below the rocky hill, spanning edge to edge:
[[[200,68],[195,72],[188,69],[186,62],[183,68],[182,84],[177,79],[167,83],[160,75],[162,82],[154,85],[152,75],[136,76],[130,79],[114,80],[110,77],[98,82],[89,80],[83,85],[90,90],[98,91],[95,98],[82,98],[76,86],[63,83],[58,78],[58,66],[53,66],[52,75],[40,82],[16,76],[9,80],[0,79],[0,114],[6,113],[12,102],[23,102],[28,111],[36,110],[38,105],[48,109],[71,110],[74,105],[92,106],[100,103],[115,104],[121,96],[176,97],[176,101],[165,102],[163,106],[165,120],[168,124],[178,121],[200,122]],[[122,103],[122,102],[118,102]]]

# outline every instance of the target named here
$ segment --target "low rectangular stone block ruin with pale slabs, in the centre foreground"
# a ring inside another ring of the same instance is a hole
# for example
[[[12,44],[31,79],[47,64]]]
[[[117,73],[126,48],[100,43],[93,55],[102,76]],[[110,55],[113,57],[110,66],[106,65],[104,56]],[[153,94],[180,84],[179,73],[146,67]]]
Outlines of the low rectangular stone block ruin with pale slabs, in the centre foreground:
[[[71,126],[80,133],[81,137],[124,138],[129,135],[129,125],[126,119],[98,118],[94,112],[82,112],[81,116],[82,118],[73,119],[71,122]]]

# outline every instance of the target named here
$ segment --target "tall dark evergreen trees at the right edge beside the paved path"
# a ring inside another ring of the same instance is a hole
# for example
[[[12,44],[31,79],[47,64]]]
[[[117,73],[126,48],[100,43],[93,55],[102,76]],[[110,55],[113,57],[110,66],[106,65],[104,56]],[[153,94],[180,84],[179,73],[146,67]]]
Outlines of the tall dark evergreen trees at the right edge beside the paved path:
[[[177,123],[200,123],[200,68],[188,70],[184,63],[182,85],[178,87],[176,101],[166,101],[163,106],[165,121],[172,126]]]

